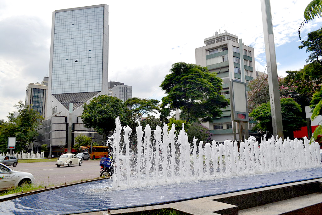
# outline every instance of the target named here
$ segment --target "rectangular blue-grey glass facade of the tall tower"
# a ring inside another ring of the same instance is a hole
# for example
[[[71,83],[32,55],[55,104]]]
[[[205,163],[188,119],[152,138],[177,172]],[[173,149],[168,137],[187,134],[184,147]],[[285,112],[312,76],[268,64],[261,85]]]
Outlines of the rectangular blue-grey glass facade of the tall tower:
[[[102,91],[104,7],[58,12],[51,94]]]

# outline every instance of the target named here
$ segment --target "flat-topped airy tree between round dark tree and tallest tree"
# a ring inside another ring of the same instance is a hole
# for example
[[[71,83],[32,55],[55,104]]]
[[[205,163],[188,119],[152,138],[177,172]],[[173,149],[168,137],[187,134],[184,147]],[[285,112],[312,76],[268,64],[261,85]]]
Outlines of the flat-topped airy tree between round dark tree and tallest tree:
[[[140,120],[143,115],[148,113],[157,113],[159,110],[159,101],[156,99],[140,99],[137,97],[128,99],[124,105],[129,108],[128,117],[131,119],[131,124],[129,125],[134,129],[136,124],[136,119]]]

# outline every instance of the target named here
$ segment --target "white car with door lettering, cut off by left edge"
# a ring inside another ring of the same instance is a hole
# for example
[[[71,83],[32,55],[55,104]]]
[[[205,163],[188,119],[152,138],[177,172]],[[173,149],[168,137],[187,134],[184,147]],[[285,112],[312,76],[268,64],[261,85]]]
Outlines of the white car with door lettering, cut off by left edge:
[[[14,171],[6,165],[0,163],[0,191],[8,190],[22,185],[31,184],[35,181],[33,174],[29,172]]]

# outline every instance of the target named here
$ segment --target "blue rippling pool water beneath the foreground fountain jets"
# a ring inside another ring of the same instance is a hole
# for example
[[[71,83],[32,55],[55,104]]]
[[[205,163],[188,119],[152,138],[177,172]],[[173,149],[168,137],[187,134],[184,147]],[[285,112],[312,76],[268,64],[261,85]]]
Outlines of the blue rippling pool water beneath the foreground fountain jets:
[[[317,178],[322,178],[320,167],[164,185],[130,185],[113,189],[110,189],[113,181],[107,179],[0,202],[0,213],[70,214],[132,208]]]

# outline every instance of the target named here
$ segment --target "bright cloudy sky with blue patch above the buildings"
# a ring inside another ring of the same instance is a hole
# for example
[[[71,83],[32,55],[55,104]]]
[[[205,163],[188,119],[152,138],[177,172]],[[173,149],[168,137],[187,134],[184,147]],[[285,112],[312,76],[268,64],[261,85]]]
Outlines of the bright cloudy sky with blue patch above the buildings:
[[[298,27],[310,2],[270,1],[279,76],[306,64],[309,54],[298,49]],[[265,70],[259,0],[0,0],[0,119],[7,121],[14,105],[25,102],[29,83],[41,83],[49,74],[52,12],[100,4],[109,5],[108,79],[133,86],[133,97],[161,100],[165,93],[159,86],[171,65],[195,64],[195,48],[216,31],[226,30],[253,47],[256,70]],[[309,22],[301,39],[321,24],[321,18]]]

